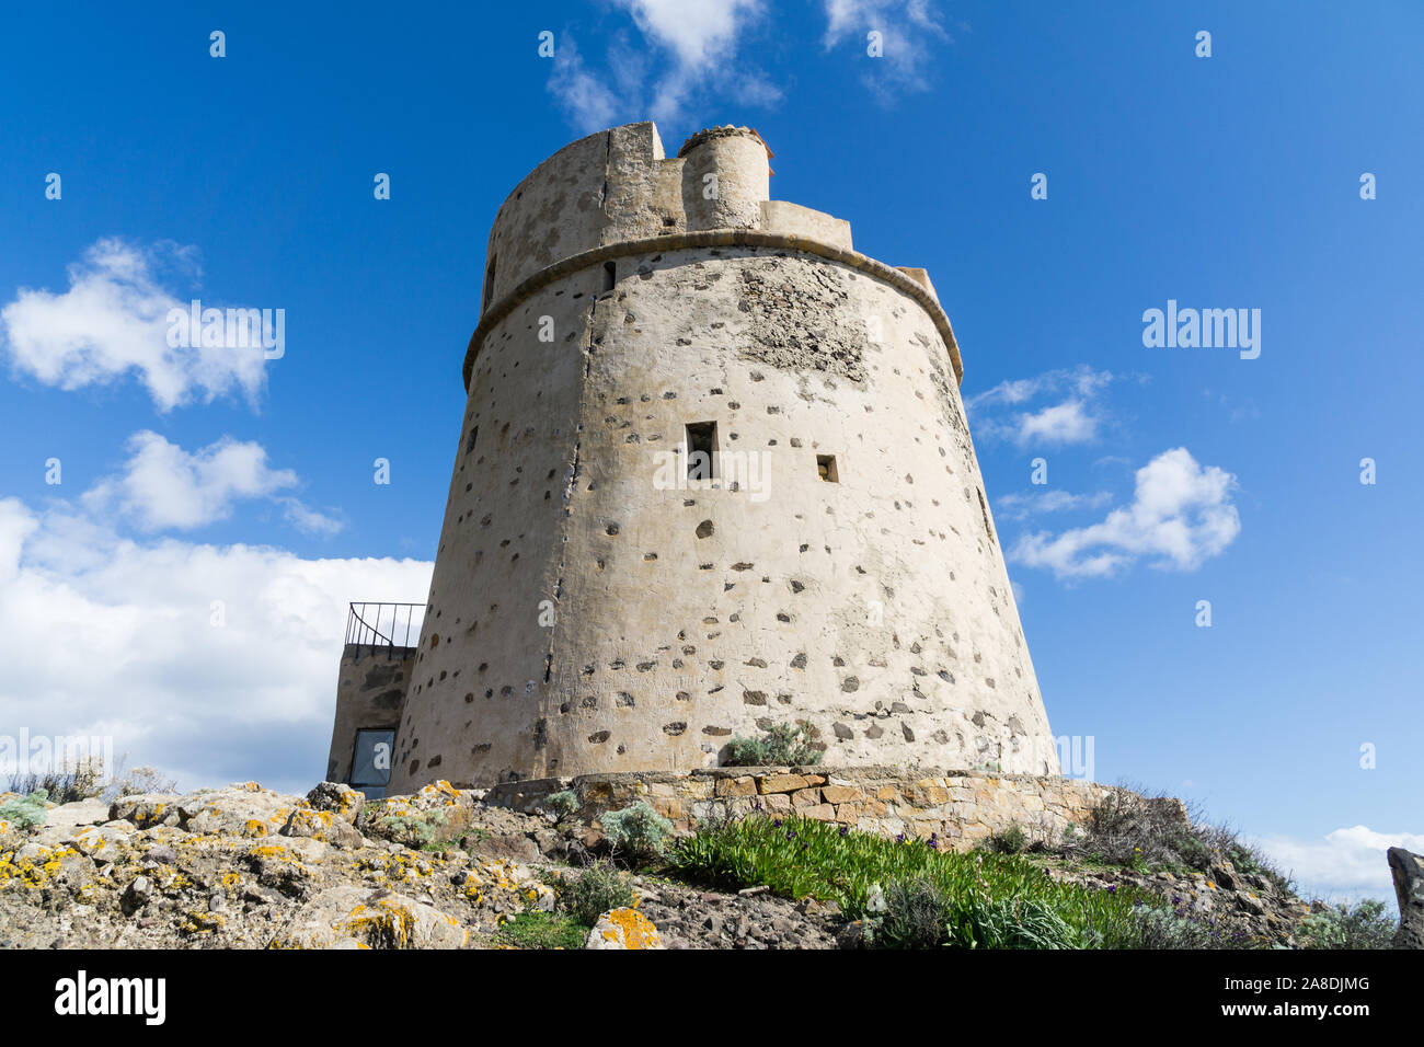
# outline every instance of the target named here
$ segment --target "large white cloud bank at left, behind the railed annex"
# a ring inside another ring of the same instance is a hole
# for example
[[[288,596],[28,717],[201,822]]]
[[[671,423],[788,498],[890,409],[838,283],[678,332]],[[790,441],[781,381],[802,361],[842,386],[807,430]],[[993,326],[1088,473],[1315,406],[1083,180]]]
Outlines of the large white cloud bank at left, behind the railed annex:
[[[140,544],[0,500],[0,722],[110,735],[184,785],[306,789],[326,769],[346,604],[423,603],[431,564]],[[221,601],[221,625],[214,615]]]

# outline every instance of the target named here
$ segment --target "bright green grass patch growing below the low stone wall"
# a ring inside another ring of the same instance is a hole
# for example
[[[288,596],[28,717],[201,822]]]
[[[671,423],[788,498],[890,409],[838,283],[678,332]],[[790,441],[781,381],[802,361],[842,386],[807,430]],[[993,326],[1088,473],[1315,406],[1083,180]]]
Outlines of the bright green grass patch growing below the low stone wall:
[[[886,899],[903,902],[913,885],[916,905],[943,926],[941,944],[961,947],[1132,947],[1141,940],[1132,906],[1162,905],[1131,887],[1057,883],[1018,855],[956,853],[805,818],[752,816],[705,828],[679,840],[666,860],[688,879],[836,902],[850,919],[891,909],[887,930],[900,913]]]

